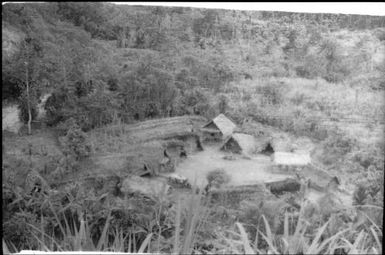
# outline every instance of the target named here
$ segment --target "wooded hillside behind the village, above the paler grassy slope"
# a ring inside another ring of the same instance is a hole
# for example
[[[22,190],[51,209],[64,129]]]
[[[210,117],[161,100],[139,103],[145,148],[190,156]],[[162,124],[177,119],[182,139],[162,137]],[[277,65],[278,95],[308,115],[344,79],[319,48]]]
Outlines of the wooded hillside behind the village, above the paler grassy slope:
[[[23,40],[12,58],[2,59],[3,99],[23,98],[28,69],[31,102],[42,91],[54,93],[47,105],[53,125],[69,116],[89,130],[111,122],[113,113],[125,122],[204,114],[208,97],[231,81],[293,75],[343,81],[370,49],[346,59],[323,34],[384,23],[355,15],[10,4],[2,26]],[[377,36],[382,40],[383,30]]]

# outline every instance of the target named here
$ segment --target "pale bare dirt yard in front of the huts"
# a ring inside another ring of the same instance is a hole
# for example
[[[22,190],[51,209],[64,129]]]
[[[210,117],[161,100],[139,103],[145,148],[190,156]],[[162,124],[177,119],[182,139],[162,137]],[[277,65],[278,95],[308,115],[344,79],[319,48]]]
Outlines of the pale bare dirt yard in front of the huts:
[[[270,157],[255,155],[250,159],[235,155],[235,160],[223,159],[229,153],[219,150],[218,145],[204,147],[204,151],[189,155],[176,167],[176,173],[185,176],[190,183],[203,187],[207,184],[207,174],[215,169],[221,168],[231,176],[229,185],[242,186],[252,185],[260,182],[278,181],[290,177],[290,174],[272,173]]]

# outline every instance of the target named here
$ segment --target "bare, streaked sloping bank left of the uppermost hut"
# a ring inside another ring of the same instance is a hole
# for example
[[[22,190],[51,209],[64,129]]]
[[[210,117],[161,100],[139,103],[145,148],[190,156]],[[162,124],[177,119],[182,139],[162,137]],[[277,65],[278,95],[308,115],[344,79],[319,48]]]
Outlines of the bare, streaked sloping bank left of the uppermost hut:
[[[88,169],[84,172],[128,173],[144,163],[155,166],[163,158],[168,141],[186,142],[185,138],[206,121],[200,116],[182,116],[93,130],[89,138],[94,154],[84,164]]]

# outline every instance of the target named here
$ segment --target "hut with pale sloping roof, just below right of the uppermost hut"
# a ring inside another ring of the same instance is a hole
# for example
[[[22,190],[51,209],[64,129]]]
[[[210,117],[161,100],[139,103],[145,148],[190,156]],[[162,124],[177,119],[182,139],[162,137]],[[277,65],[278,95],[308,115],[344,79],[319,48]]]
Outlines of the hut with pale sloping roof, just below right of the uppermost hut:
[[[238,154],[251,154],[255,151],[254,136],[242,133],[232,134],[226,139],[221,150]]]

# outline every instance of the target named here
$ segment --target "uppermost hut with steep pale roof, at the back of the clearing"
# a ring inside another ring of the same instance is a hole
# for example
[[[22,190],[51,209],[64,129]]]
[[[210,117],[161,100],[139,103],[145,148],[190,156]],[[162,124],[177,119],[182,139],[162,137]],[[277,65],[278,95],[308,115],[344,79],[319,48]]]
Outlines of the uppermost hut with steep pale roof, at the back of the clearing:
[[[201,128],[204,140],[220,141],[231,135],[236,125],[224,114],[219,114]]]

